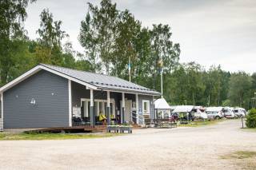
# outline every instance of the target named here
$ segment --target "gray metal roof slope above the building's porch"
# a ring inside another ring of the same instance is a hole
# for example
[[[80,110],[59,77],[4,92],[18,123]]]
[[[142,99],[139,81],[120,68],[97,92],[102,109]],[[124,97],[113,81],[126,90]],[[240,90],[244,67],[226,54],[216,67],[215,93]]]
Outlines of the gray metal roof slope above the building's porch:
[[[40,65],[43,65],[48,69],[53,69],[59,73],[66,74],[67,76],[74,77],[79,81],[84,81],[90,85],[94,85],[98,89],[110,89],[110,90],[116,90],[116,91],[127,91],[131,93],[146,93],[146,94],[152,94],[152,95],[161,94],[154,91],[153,89],[148,89],[146,87],[143,87],[142,85],[137,85],[135,83],[123,80],[118,77],[113,77],[113,76],[108,76],[108,75],[98,74],[98,73],[90,73],[90,72],[77,70],[77,69],[68,69],[68,68],[59,67],[55,65],[46,65],[46,64],[40,64]]]

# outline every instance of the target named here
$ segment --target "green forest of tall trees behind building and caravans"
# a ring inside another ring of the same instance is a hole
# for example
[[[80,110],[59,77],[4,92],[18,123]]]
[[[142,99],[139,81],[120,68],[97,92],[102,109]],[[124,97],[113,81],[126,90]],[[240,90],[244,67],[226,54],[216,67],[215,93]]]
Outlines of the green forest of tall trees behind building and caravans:
[[[131,81],[158,91],[162,70],[163,94],[171,105],[231,105],[246,109],[254,105],[256,73],[230,73],[220,65],[206,70],[196,62],[179,63],[181,48],[172,42],[169,25],[144,27],[129,10],[118,10],[110,0],[102,0],[98,6],[88,3],[78,33],[84,52],[78,53],[68,41],[68,33],[62,30],[62,21],[54,21],[48,9],[38,16],[38,38],[27,36],[24,24],[30,3],[36,1],[0,1],[0,85],[38,63],[129,80],[130,63]]]

